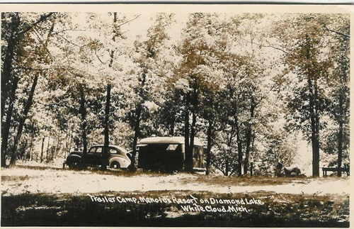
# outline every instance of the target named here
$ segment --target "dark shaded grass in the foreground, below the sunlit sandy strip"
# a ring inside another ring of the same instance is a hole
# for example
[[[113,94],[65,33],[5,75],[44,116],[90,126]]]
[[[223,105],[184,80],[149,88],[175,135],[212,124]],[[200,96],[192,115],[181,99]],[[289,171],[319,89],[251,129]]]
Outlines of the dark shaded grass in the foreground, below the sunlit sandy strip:
[[[315,196],[255,192],[213,194],[207,191],[105,192],[91,194],[103,198],[131,200],[166,198],[190,199],[211,208],[225,203],[201,200],[240,200],[252,198],[264,204],[245,204],[249,212],[183,211],[188,204],[175,202],[125,203],[92,201],[89,195],[22,194],[2,196],[1,226],[188,226],[188,227],[348,227],[348,196]],[[193,204],[191,204],[193,206]],[[235,205],[233,205],[235,206]],[[239,205],[240,206],[240,205]]]

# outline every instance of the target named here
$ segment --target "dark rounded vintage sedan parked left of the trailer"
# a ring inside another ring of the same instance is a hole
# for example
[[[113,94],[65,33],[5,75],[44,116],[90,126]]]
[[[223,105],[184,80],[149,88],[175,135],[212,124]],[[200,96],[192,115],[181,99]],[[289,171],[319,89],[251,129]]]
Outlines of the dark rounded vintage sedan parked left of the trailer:
[[[81,151],[70,152],[64,165],[69,168],[76,168],[81,164]],[[86,154],[86,164],[89,166],[99,166],[102,162],[103,145],[93,145]],[[130,158],[127,156],[127,150],[116,145],[110,145],[108,151],[108,165],[113,169],[126,169],[130,165]]]

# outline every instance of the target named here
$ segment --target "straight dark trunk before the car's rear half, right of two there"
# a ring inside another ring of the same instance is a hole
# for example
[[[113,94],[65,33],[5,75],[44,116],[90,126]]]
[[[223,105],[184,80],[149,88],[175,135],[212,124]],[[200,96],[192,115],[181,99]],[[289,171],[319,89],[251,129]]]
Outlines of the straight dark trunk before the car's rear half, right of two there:
[[[107,99],[105,102],[105,143],[103,146],[103,154],[102,154],[102,164],[101,169],[107,169],[108,165],[108,150],[109,150],[109,117],[110,117],[110,89],[111,85],[107,84]]]

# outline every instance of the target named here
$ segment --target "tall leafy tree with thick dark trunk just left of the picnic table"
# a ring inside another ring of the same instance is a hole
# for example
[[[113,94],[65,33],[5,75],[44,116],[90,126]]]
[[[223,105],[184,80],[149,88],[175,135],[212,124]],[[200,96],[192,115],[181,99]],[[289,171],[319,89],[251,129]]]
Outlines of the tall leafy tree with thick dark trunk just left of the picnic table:
[[[286,70],[296,77],[287,81],[294,83],[290,84],[293,94],[288,98],[290,113],[287,122],[289,128],[302,130],[312,144],[312,176],[319,177],[320,130],[324,128],[320,119],[328,107],[324,88],[328,85],[331,69],[329,57],[322,55],[328,34],[324,33],[318,15],[299,14],[288,17],[284,23],[289,29],[276,27],[284,44],[282,50]],[[290,77],[289,74],[287,76]]]

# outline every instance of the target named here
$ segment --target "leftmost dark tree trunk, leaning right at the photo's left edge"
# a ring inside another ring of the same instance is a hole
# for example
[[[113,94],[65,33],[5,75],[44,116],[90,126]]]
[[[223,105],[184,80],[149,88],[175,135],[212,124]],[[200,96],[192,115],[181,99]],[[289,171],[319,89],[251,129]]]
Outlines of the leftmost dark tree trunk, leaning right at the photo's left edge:
[[[6,121],[1,126],[1,167],[6,167],[6,153],[8,147],[8,135],[10,134],[11,119],[13,114],[13,105],[15,104],[16,89],[18,85],[18,76],[14,75],[13,83],[8,101],[8,109],[6,111]]]

